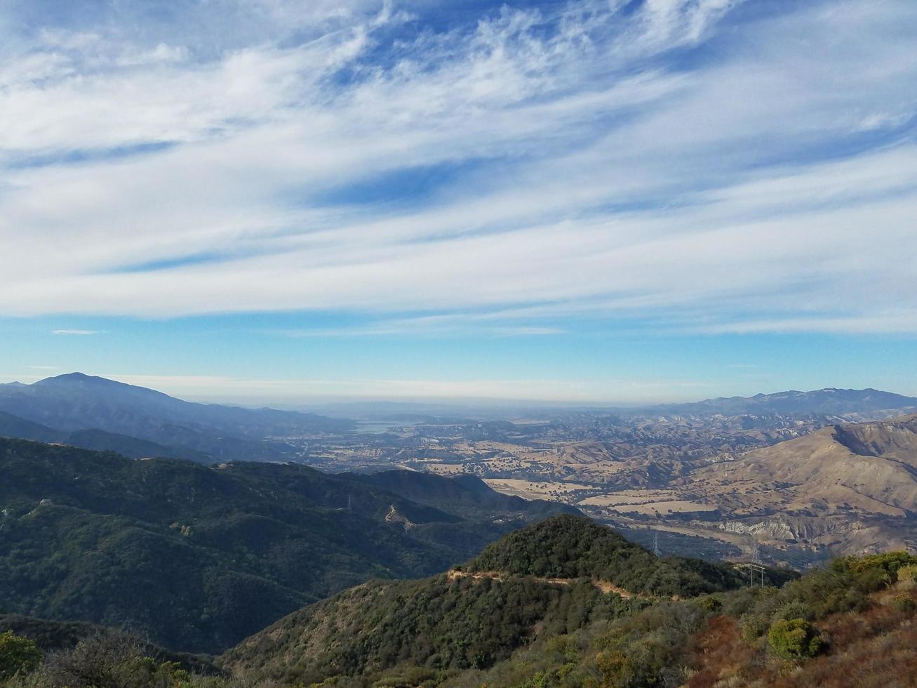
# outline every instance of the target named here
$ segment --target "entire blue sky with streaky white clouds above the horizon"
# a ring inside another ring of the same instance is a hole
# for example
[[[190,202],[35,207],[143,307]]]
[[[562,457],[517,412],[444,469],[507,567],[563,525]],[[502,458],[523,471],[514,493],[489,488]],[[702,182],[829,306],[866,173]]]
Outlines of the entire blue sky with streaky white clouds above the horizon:
[[[0,382],[917,395],[911,0],[0,0]]]

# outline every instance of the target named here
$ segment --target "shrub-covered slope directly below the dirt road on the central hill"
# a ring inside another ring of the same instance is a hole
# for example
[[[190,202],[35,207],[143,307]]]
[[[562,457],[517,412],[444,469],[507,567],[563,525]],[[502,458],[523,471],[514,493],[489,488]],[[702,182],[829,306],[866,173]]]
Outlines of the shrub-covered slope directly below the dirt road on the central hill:
[[[599,597],[588,583],[569,590],[522,578],[374,581],[286,616],[231,650],[226,666],[282,685],[399,664],[487,667],[533,639],[536,625],[562,627],[569,606],[577,605],[579,615]]]

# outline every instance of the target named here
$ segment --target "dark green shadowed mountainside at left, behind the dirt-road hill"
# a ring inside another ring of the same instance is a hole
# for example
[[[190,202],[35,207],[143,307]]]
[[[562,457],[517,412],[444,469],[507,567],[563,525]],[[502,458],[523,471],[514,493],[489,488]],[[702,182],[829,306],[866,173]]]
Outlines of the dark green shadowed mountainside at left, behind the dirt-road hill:
[[[127,624],[188,651],[226,649],[370,577],[443,571],[544,508],[469,517],[303,466],[131,461],[11,439],[0,475],[0,605]]]

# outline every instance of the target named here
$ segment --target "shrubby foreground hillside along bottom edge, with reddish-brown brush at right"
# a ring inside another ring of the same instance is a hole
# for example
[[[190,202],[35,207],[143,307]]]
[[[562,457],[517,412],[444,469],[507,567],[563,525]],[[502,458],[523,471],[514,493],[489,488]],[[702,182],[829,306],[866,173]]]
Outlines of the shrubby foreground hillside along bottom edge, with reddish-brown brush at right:
[[[525,528],[526,537],[547,532],[556,552],[558,533],[595,532],[586,519],[552,521],[563,527],[539,524]],[[491,554],[518,550],[518,539],[506,538]],[[589,551],[569,539],[568,551],[583,560],[562,562],[565,568],[589,568]],[[621,545],[622,557],[644,566],[639,548]],[[678,560],[663,563],[679,569]],[[284,617],[216,667],[116,631],[0,616],[0,626],[14,631],[0,632],[0,686],[917,685],[917,557],[904,552],[834,560],[779,585],[726,590],[714,579],[708,583],[717,592],[679,599],[605,592],[588,577],[470,568],[363,583]],[[42,651],[51,647],[60,651]]]

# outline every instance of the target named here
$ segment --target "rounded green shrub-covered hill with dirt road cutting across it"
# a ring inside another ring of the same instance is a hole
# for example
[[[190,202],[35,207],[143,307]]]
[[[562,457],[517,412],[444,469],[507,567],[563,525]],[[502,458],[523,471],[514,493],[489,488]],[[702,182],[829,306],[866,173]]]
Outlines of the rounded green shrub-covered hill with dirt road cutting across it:
[[[306,607],[231,650],[226,664],[283,684],[401,664],[436,671],[484,668],[540,635],[569,633],[651,604],[602,594],[591,579],[620,585],[610,571],[627,571],[631,583],[646,576],[648,583],[635,590],[657,594],[690,596],[742,583],[731,567],[658,560],[585,516],[552,516],[446,574],[367,583]]]

